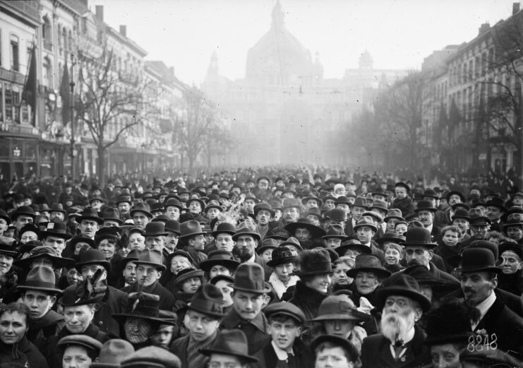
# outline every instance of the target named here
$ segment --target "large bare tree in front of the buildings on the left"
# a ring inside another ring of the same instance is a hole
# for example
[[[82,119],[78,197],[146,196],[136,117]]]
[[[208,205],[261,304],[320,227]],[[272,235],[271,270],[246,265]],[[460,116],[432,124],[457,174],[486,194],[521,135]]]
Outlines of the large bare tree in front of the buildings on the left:
[[[104,184],[107,148],[125,131],[138,126],[148,114],[143,97],[146,85],[140,75],[116,71],[112,49],[100,56],[80,52],[78,121],[87,126],[97,146],[97,176]]]

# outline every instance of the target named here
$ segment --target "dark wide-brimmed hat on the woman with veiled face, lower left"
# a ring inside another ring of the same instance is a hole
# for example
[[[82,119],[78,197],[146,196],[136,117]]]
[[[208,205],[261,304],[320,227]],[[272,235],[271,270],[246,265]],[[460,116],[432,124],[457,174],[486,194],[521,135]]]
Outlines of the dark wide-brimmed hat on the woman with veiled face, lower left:
[[[160,317],[160,296],[148,292],[131,292],[128,296],[126,311],[112,316],[121,323],[131,317],[161,324],[174,324],[174,322]]]

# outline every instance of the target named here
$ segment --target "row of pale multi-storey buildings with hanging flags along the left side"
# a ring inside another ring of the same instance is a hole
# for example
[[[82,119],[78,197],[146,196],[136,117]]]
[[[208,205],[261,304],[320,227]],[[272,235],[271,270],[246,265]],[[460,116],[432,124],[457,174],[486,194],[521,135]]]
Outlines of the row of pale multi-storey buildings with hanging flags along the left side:
[[[103,141],[116,143],[104,157],[107,172],[179,164],[174,125],[188,86],[163,61],[146,60],[126,33],[125,25],[104,23],[103,6],[90,11],[88,0],[0,1],[0,180],[97,172],[100,145],[78,114],[89,114],[80,102],[90,96],[90,71],[100,67],[89,60],[103,64],[109,53],[116,78],[107,90],[145,85],[140,106],[153,114],[108,119]]]

